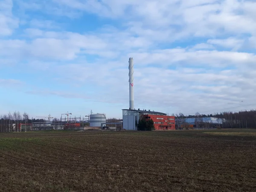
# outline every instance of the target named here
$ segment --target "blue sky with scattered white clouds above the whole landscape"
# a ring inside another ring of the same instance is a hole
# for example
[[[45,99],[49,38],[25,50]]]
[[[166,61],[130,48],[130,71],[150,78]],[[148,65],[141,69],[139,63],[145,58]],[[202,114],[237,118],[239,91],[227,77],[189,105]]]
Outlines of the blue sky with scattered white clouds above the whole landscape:
[[[0,114],[256,108],[255,0],[0,0]]]

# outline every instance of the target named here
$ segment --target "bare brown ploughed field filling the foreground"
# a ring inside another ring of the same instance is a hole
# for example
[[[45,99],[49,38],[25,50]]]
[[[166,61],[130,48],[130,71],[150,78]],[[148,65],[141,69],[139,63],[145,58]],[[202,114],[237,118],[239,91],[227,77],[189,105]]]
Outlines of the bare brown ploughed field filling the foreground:
[[[256,130],[1,133],[0,191],[255,192]]]

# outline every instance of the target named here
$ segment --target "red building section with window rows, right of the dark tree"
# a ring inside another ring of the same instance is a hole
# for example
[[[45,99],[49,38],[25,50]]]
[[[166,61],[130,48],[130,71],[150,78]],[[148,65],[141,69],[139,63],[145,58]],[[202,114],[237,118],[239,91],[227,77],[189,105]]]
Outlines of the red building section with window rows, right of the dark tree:
[[[146,121],[152,119],[155,130],[175,130],[175,116],[145,114],[140,118]]]

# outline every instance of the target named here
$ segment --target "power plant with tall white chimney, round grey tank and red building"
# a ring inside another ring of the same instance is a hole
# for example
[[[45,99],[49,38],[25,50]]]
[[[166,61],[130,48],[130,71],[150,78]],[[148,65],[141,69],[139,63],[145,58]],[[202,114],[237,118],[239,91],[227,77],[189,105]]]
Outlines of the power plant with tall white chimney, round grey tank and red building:
[[[105,113],[95,113],[92,110],[87,116],[88,119],[81,120],[81,116],[76,118],[71,118],[72,113],[62,113],[61,119],[58,124],[55,122],[32,122],[32,128],[37,129],[115,129],[117,126],[126,130],[137,130],[137,126],[140,119],[152,119],[155,124],[156,130],[173,130],[175,129],[175,117],[167,116],[166,113],[151,111],[151,110],[140,110],[134,108],[134,60],[132,57],[128,60],[129,69],[129,109],[122,110],[122,121],[108,121]],[[64,117],[63,117],[64,116]],[[49,118],[48,117],[48,120]],[[107,126],[108,125],[108,126]],[[115,129],[116,130],[116,129]]]

